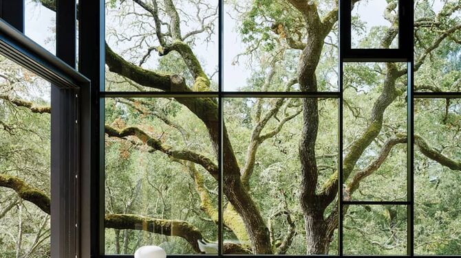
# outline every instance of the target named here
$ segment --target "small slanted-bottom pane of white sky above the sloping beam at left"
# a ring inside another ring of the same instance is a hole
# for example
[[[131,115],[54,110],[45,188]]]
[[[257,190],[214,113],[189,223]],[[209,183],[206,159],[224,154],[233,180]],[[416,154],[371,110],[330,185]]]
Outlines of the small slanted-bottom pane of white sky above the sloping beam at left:
[[[25,36],[56,54],[56,12],[50,10],[50,3],[44,2],[25,0]]]

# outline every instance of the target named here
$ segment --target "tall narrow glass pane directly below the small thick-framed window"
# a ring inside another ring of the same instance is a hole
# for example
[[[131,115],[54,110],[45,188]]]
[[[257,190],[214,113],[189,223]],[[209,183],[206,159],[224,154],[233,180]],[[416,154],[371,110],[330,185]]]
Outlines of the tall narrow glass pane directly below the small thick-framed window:
[[[407,200],[406,69],[344,64],[344,200]]]

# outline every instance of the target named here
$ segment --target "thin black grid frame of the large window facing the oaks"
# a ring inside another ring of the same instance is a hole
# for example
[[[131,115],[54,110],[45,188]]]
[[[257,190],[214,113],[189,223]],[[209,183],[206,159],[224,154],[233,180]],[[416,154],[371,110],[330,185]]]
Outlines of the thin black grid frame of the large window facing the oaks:
[[[418,97],[461,97],[461,93],[418,93],[414,92],[414,1],[399,0],[398,1],[398,16],[399,16],[399,43],[396,49],[353,49],[351,47],[351,0],[339,1],[339,89],[337,92],[240,92],[240,91],[224,91],[224,66],[223,66],[223,19],[224,1],[219,0],[219,78],[218,91],[206,93],[174,93],[174,92],[109,92],[101,88],[101,102],[106,97],[217,97],[219,126],[222,132],[223,121],[223,106],[222,100],[226,97],[314,97],[314,98],[335,98],[339,101],[339,153],[343,153],[343,64],[345,62],[406,62],[407,63],[407,200],[406,201],[345,201],[343,200],[343,156],[339,156],[339,225],[338,225],[338,255],[343,254],[343,207],[345,205],[403,205],[407,207],[407,255],[414,256],[414,99]],[[100,110],[101,119],[104,118],[104,109]],[[102,123],[103,124],[103,123]],[[100,128],[103,130],[103,127]],[[219,139],[221,135],[219,135]],[[100,138],[100,145],[103,148],[104,134]],[[232,257],[235,255],[224,255],[222,253],[222,147],[219,145],[219,224],[218,224],[218,255],[168,255],[168,257]],[[100,151],[104,154],[104,151]],[[100,167],[104,169],[103,159],[100,160]],[[102,176],[104,176],[104,170]],[[100,200],[103,200],[103,196]],[[102,202],[104,205],[104,202]],[[100,235],[100,244],[104,244],[104,233]],[[104,246],[99,250],[99,257],[116,258],[129,257],[133,255],[104,255]],[[253,256],[253,255],[246,255]],[[275,255],[255,255],[257,257],[275,257]],[[283,257],[303,257],[306,255],[283,255]],[[334,255],[333,255],[334,256]],[[391,255],[392,256],[392,255]],[[397,256],[397,255],[396,255]]]

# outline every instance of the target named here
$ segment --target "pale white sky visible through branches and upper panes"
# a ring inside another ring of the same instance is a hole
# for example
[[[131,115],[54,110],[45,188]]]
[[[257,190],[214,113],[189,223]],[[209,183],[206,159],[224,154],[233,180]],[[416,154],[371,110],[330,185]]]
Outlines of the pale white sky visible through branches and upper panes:
[[[214,0],[206,0],[206,3],[214,3]],[[25,35],[35,40],[39,45],[42,45],[48,51],[54,53],[54,37],[53,27],[55,23],[54,12],[44,8],[39,3],[34,3],[32,0],[25,1]],[[214,3],[216,4],[216,3]],[[376,25],[389,25],[389,22],[383,18],[383,10],[385,8],[385,0],[369,0],[365,4],[357,5],[354,8],[353,14],[360,14],[361,19],[367,22],[367,27]],[[436,0],[434,10],[440,10],[442,0]],[[232,17],[231,17],[232,16]],[[223,43],[223,69],[224,69],[224,90],[237,91],[240,86],[246,84],[246,80],[251,75],[250,67],[248,66],[248,58],[240,58],[239,65],[232,65],[232,62],[237,56],[246,50],[246,45],[240,40],[237,32],[237,21],[235,21],[235,11],[230,6],[224,6],[224,43]],[[234,18],[233,18],[234,17]],[[116,27],[113,21],[107,19],[107,25]],[[191,30],[187,24],[182,25],[182,30],[187,32]],[[184,33],[183,32],[183,33]],[[215,30],[217,33],[217,30]],[[120,46],[122,48],[123,46]],[[114,47],[117,49],[117,47]],[[218,43],[217,35],[213,36],[213,42],[204,44],[198,42],[194,47],[199,60],[204,61],[204,69],[206,73],[212,74],[217,68]],[[151,62],[158,62],[156,55],[153,55]],[[256,64],[252,64],[255,67]],[[217,81],[217,76],[213,78]]]

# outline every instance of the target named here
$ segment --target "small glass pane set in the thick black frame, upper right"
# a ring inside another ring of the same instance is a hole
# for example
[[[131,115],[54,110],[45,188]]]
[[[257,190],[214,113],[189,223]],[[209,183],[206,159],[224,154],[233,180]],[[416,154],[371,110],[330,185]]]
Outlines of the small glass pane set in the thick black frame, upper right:
[[[353,49],[398,48],[398,0],[358,1],[351,26]]]

